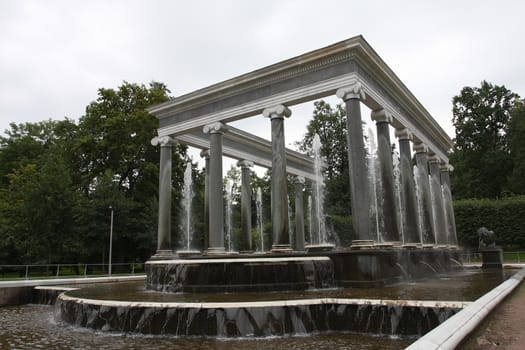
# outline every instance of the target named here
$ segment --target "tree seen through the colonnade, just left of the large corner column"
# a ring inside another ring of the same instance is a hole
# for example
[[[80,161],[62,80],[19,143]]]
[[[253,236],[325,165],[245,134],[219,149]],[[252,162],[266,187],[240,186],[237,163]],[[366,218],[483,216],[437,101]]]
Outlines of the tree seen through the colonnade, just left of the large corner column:
[[[320,100],[314,103],[313,116],[303,140],[297,145],[312,154],[315,134],[321,141],[321,155],[326,161],[326,212],[331,215],[350,215],[350,183],[348,144],[346,140],[346,110],[338,104],[332,108]]]

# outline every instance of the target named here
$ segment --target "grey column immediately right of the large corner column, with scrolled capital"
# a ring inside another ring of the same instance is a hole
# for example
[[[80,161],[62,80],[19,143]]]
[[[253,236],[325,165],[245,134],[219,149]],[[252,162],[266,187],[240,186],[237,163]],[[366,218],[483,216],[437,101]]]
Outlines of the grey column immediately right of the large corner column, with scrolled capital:
[[[394,166],[392,164],[392,147],[390,143],[390,123],[392,116],[384,109],[372,112],[372,120],[377,128],[377,154],[383,189],[383,241],[399,242],[399,227],[397,226],[397,203],[394,187]]]

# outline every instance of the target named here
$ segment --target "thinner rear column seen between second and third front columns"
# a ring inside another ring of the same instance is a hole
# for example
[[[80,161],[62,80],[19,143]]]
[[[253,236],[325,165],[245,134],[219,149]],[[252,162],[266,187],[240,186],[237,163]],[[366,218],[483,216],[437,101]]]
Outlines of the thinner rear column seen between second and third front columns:
[[[250,253],[252,249],[252,188],[250,185],[250,168],[253,162],[241,160],[237,162],[241,167],[241,239],[240,251]]]

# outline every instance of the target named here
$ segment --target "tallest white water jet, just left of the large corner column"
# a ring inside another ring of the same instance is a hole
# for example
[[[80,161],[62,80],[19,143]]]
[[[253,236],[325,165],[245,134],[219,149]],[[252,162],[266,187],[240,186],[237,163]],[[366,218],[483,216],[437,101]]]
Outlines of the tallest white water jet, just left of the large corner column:
[[[314,183],[314,196],[315,196],[315,221],[316,221],[316,233],[317,233],[317,244],[327,243],[326,237],[326,221],[324,214],[324,174],[323,174],[323,157],[321,155],[321,139],[318,134],[314,135],[312,141],[312,149],[314,152],[314,171],[315,171],[315,183]]]

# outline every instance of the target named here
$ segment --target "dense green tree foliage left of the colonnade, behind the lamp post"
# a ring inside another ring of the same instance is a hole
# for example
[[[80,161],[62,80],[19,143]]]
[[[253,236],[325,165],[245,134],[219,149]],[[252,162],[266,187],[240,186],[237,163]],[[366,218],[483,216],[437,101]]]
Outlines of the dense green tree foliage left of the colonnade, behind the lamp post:
[[[155,249],[158,121],[146,108],[164,84],[99,89],[78,124],[11,124],[0,137],[0,263],[104,262],[114,211],[113,262]],[[174,203],[186,149],[174,147]],[[174,212],[177,206],[173,206]]]

